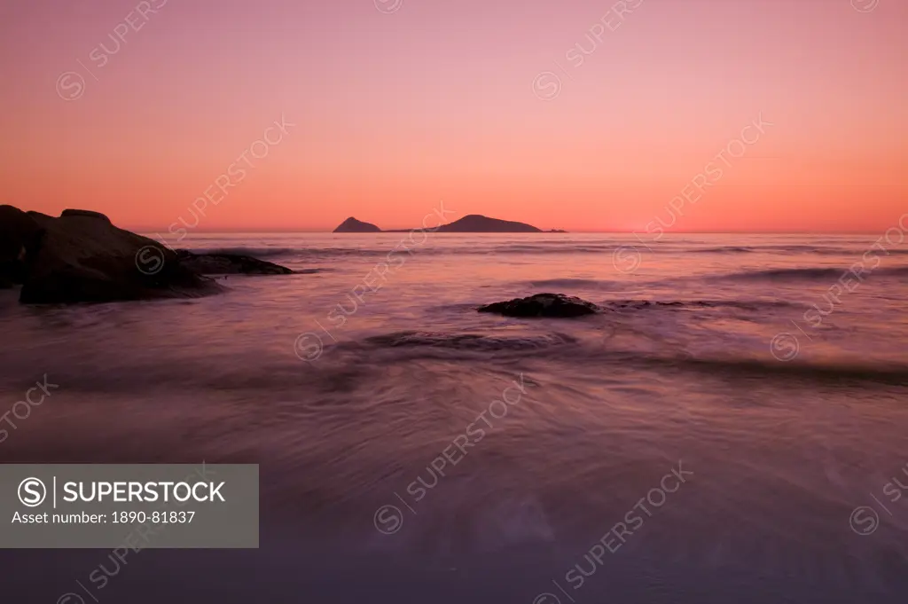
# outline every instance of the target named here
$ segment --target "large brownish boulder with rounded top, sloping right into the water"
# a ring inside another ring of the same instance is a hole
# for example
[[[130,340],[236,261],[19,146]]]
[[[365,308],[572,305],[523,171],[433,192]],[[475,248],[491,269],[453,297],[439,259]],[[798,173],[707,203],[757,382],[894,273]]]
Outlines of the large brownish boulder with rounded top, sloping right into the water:
[[[32,214],[29,214],[32,215]],[[193,298],[222,286],[180,265],[176,252],[118,229],[104,214],[66,210],[44,226],[19,296],[25,303]]]

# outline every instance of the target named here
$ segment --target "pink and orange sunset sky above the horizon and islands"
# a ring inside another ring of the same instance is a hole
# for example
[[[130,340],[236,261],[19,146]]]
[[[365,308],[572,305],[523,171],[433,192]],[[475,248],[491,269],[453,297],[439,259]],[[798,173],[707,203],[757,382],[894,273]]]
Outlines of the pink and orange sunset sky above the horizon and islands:
[[[0,203],[162,232],[440,202],[882,233],[908,212],[906,30],[903,0],[7,2]]]

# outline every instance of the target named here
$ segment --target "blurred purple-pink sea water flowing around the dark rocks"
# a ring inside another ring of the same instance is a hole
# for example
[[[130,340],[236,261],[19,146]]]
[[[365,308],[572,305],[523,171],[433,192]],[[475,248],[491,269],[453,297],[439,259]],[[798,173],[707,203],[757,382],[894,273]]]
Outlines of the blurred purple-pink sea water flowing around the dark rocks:
[[[299,272],[0,291],[0,413],[57,386],[0,460],[262,477],[259,550],[5,550],[2,599],[903,602],[903,239],[191,233]],[[538,292],[605,310],[475,310]]]

